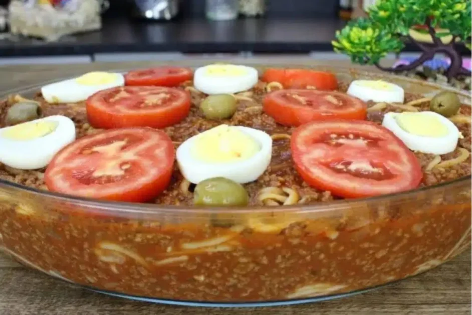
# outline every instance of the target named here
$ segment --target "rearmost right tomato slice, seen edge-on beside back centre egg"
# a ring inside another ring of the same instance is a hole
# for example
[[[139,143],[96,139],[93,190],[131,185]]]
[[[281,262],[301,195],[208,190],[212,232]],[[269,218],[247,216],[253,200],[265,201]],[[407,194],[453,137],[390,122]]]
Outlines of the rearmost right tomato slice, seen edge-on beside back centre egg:
[[[279,82],[286,89],[315,88],[317,90],[335,90],[338,80],[331,72],[310,69],[267,69],[262,80],[264,82]]]

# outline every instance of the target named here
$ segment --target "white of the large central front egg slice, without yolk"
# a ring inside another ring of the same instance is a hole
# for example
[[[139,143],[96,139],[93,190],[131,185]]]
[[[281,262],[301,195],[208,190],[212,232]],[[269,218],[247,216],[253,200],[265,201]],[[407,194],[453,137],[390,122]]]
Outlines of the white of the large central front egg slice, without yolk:
[[[261,149],[252,157],[238,162],[206,163],[196,160],[191,154],[195,144],[193,136],[183,142],[176,152],[176,159],[180,172],[190,183],[198,184],[206,179],[224,177],[234,182],[244,184],[257,180],[271,163],[272,138],[264,131],[236,126],[257,141]]]

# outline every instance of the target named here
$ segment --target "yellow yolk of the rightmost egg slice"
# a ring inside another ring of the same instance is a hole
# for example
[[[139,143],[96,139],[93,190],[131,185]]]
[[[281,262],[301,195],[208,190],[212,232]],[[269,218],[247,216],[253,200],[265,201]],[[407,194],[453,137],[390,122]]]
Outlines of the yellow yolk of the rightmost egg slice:
[[[434,115],[403,112],[395,115],[395,120],[408,133],[428,137],[447,135],[447,127]]]

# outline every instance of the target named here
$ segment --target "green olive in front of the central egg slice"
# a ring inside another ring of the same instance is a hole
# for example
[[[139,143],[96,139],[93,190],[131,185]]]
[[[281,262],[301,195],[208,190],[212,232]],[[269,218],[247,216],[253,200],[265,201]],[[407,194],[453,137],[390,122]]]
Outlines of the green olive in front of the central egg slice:
[[[193,192],[197,206],[247,206],[249,195],[241,184],[223,177],[201,181]]]

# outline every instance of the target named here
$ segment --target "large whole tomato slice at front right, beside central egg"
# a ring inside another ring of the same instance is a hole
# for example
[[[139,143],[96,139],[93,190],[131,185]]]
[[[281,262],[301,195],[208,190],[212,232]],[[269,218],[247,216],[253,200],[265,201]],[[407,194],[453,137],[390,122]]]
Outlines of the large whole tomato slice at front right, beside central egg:
[[[345,198],[416,188],[421,166],[388,129],[363,120],[329,120],[298,127],[291,138],[295,168],[309,185]]]

